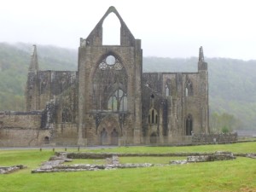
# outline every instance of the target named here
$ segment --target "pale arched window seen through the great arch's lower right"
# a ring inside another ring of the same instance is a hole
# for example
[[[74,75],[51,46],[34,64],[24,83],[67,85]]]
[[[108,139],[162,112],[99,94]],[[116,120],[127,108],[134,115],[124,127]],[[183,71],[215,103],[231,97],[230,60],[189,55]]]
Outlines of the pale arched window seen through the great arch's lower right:
[[[127,95],[121,90],[115,90],[108,99],[108,110],[127,111]]]

